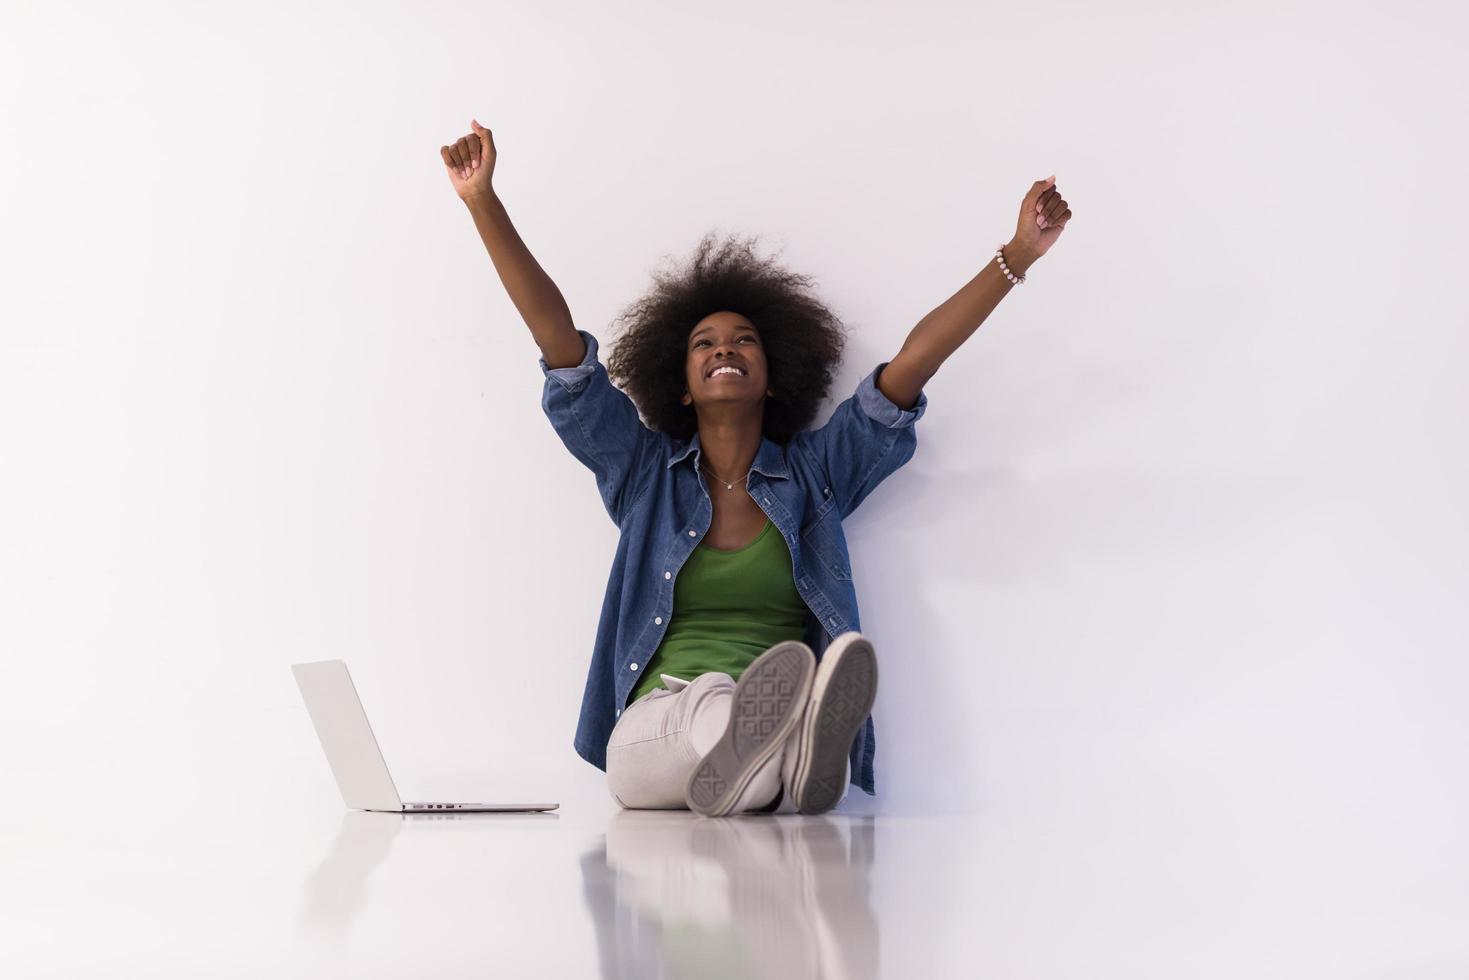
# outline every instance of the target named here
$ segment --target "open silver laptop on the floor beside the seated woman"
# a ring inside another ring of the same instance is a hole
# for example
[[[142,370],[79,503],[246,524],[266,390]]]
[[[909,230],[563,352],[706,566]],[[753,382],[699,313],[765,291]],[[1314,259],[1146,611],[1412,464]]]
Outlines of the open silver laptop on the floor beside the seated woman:
[[[291,664],[295,683],[306,698],[316,736],[326,749],[326,761],[342,790],[342,801],[353,810],[380,813],[523,813],[555,810],[561,804],[405,804],[388,773],[388,763],[378,748],[378,738],[367,724],[367,713],[357,696],[353,677],[341,660]]]

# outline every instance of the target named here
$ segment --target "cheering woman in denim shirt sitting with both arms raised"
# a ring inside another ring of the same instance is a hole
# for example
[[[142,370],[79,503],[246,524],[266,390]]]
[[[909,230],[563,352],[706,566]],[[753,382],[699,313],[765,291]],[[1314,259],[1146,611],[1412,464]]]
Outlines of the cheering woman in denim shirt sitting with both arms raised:
[[[621,532],[577,754],[630,808],[818,814],[849,783],[876,795],[877,657],[842,519],[912,457],[924,383],[1071,220],[1055,178],[1031,185],[995,260],[808,429],[843,347],[809,278],[705,237],[618,317],[604,369],[492,188],[491,132],[470,126],[439,148],[445,170],[541,348],[542,408]]]

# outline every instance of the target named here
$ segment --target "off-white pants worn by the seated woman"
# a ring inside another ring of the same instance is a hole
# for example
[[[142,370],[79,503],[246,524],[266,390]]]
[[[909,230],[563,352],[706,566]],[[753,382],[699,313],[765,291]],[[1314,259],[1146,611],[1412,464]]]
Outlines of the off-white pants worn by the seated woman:
[[[704,673],[693,680],[661,676],[668,686],[655,688],[623,708],[607,741],[607,789],[629,810],[687,810],[685,789],[689,776],[729,724],[733,677],[720,671]],[[787,751],[793,743],[792,735],[751,780],[746,795],[754,802],[745,813],[768,805],[789,783],[795,758],[793,754],[787,758]],[[842,799],[846,799],[851,780],[852,763],[848,760]],[[790,792],[782,796],[773,813],[798,813]]]

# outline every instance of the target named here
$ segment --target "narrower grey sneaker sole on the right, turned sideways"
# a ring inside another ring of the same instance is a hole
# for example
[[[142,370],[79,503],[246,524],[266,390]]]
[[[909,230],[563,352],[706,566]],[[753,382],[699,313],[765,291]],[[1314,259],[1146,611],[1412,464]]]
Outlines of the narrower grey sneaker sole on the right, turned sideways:
[[[802,733],[806,751],[792,774],[792,798],[804,814],[824,814],[842,799],[852,741],[877,701],[873,644],[864,638],[851,641],[836,651],[834,661],[830,652],[829,648],[821,655],[817,669]]]

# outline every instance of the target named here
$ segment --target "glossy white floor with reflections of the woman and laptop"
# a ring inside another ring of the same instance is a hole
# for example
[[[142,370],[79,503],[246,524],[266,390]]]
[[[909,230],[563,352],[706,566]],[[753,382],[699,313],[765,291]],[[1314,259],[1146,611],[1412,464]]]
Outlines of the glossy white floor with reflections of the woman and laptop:
[[[1043,782],[972,814],[884,814],[858,793],[843,804],[856,813],[729,820],[595,793],[552,814],[460,817],[10,801],[0,971],[1469,974],[1462,835],[1366,783],[1359,808],[1331,814],[1288,788],[1224,799]]]

